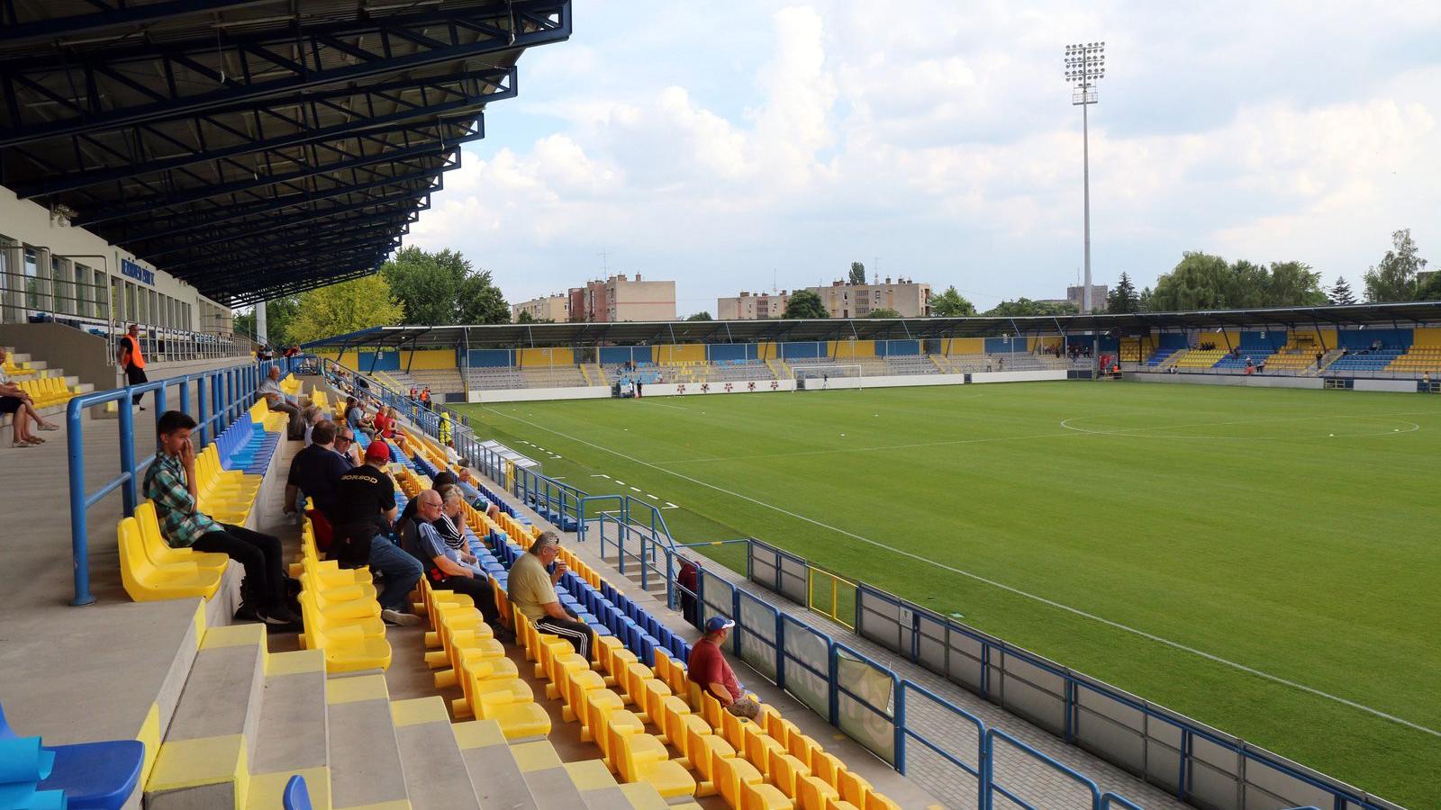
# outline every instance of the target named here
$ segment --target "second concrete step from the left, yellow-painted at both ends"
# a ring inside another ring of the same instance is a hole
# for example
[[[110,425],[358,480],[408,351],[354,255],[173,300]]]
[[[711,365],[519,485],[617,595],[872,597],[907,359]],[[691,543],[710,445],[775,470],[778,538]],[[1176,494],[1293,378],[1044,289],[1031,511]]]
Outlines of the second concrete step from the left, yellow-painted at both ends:
[[[305,777],[316,807],[330,806],[326,656],[320,650],[268,657],[248,807],[278,807],[285,783]]]

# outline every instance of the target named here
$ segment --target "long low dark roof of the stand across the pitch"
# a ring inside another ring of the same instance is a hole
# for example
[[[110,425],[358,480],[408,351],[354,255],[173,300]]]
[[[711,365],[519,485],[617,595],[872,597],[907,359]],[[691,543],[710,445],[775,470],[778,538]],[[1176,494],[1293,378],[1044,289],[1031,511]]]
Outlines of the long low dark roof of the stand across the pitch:
[[[1282,307],[1268,310],[1203,310],[1043,317],[958,319],[821,319],[821,320],[682,320],[623,323],[509,323],[483,326],[378,326],[307,343],[320,347],[463,346],[591,346],[601,343],[752,343],[765,340],[895,340],[925,337],[991,337],[1001,334],[1069,334],[1102,331],[1147,334],[1182,329],[1411,327],[1441,323],[1441,301]]]

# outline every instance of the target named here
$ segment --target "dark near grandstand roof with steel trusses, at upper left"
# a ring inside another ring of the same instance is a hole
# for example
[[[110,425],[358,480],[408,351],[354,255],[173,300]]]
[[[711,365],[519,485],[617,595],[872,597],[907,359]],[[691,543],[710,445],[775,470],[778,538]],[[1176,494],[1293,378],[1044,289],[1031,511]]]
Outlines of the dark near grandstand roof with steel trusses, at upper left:
[[[375,271],[569,35],[569,0],[3,3],[0,180],[218,301],[297,293]]]

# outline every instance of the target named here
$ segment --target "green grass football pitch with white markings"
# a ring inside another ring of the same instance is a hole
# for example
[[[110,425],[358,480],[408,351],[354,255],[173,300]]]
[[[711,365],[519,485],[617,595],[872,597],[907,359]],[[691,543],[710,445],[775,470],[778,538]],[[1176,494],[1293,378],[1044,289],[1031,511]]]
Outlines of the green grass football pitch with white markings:
[[[1441,807],[1441,398],[1058,382],[467,408],[550,476],[676,504],[680,540],[764,539]]]

